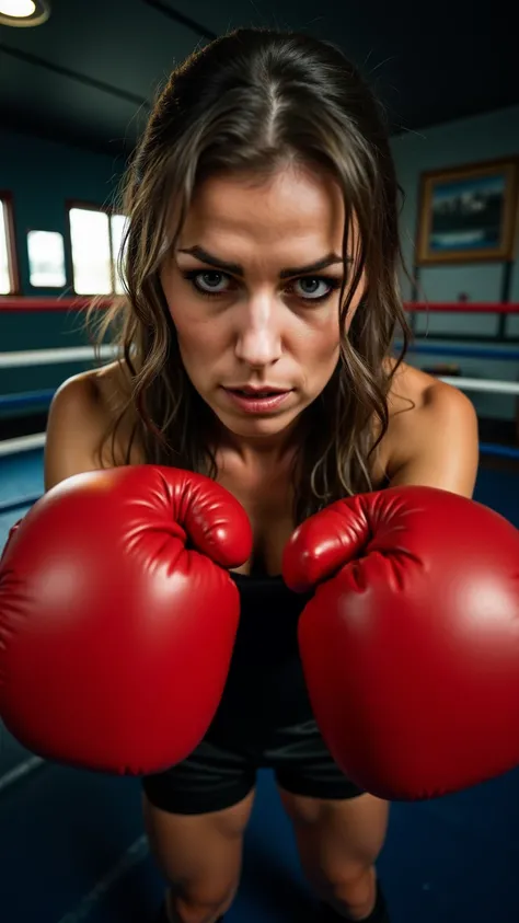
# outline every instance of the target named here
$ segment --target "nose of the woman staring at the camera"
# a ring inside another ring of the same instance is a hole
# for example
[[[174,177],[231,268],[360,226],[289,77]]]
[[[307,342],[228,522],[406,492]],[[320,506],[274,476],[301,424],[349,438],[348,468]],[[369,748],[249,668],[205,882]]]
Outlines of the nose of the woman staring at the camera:
[[[276,362],[281,355],[280,305],[270,293],[252,296],[240,304],[235,356],[254,368]]]

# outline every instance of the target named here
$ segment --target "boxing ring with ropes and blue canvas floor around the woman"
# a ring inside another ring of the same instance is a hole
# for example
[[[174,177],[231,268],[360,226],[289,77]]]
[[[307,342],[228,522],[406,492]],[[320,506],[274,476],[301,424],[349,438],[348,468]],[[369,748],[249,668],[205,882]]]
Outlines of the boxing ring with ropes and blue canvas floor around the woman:
[[[0,324],[8,330],[13,315],[26,314],[30,322],[35,312],[70,314],[84,305],[79,298],[0,298]],[[504,321],[517,319],[519,304],[406,307],[415,326],[426,313],[429,318],[499,316],[500,335],[482,336],[481,342],[474,337],[462,342],[462,334],[452,334],[448,341],[432,332],[426,337],[418,330],[406,361],[464,391],[474,403],[481,395],[507,402],[503,438],[499,432],[499,438],[495,432],[487,438],[482,427],[475,499],[519,527],[519,337],[503,335]],[[102,362],[114,356],[111,346],[101,348]],[[11,526],[44,491],[44,424],[53,395],[66,377],[61,378],[60,370],[72,365],[80,371],[93,364],[94,350],[84,343],[0,351],[0,549]],[[500,369],[498,378],[487,374],[488,366]],[[53,370],[53,386],[37,386],[43,369],[47,376]],[[12,371],[26,374],[30,386],[11,389]],[[33,419],[39,423],[34,430]],[[24,751],[1,727],[0,735],[0,916],[5,923],[141,923],[151,919],[162,882],[142,834],[138,780],[48,764]],[[457,796],[393,806],[379,873],[395,923],[418,919],[420,923],[486,923],[491,919],[517,923],[518,788],[519,772],[515,772]],[[243,882],[227,920],[311,920],[289,823],[268,771],[258,781]]]

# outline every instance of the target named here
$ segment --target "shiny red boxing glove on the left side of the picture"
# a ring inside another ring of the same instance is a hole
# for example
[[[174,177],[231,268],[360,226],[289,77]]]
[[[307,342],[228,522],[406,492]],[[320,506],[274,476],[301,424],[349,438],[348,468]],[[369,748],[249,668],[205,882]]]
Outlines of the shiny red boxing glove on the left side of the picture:
[[[205,736],[239,621],[226,568],[252,534],[208,477],[151,465],[71,477],[0,562],[0,715],[44,758],[164,770]]]

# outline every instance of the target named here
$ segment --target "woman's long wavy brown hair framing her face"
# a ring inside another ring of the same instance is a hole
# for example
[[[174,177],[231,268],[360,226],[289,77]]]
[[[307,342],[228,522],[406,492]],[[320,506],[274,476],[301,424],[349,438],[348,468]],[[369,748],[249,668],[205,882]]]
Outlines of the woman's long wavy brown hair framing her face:
[[[388,128],[339,49],[303,34],[240,28],[173,71],[125,178],[126,298],[103,316],[99,336],[112,331],[130,370],[128,403],[147,460],[216,476],[215,418],[183,367],[160,266],[204,178],[247,171],[261,180],[290,162],[326,170],[338,183],[345,265],[353,217],[359,240],[353,277],[341,291],[339,362],[304,411],[310,425],[301,430],[293,484],[301,521],[334,499],[372,488],[370,458],[388,429],[391,381],[411,339],[399,287],[400,191]],[[364,270],[366,291],[346,335]],[[390,365],[396,332],[403,345]],[[107,434],[113,447],[117,426]]]

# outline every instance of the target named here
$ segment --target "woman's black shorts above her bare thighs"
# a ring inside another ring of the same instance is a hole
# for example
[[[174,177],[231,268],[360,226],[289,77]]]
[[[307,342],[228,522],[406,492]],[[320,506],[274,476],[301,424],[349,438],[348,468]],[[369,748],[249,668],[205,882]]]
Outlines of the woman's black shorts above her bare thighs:
[[[146,776],[143,788],[151,804],[164,811],[209,814],[242,801],[261,768],[273,769],[280,788],[293,795],[347,799],[364,794],[338,769],[313,718],[270,729],[256,746],[206,738],[187,760]]]

